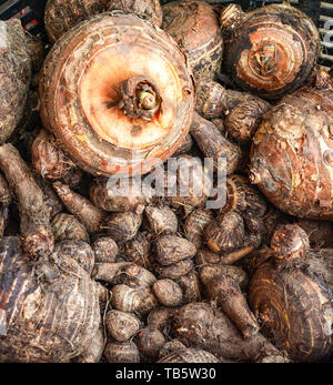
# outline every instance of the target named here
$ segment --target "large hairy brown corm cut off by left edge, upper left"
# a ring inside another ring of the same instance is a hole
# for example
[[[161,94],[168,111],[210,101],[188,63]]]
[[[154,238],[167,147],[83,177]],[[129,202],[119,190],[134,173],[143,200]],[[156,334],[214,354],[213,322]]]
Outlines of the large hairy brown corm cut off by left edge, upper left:
[[[3,143],[23,116],[31,60],[20,20],[0,20],[0,143]]]

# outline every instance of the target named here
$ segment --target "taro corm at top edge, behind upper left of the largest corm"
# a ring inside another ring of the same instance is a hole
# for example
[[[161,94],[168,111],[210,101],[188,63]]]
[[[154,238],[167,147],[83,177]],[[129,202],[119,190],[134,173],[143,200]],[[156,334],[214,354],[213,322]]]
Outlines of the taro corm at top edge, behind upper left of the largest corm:
[[[44,10],[46,30],[54,43],[74,26],[108,10],[109,0],[48,0]]]

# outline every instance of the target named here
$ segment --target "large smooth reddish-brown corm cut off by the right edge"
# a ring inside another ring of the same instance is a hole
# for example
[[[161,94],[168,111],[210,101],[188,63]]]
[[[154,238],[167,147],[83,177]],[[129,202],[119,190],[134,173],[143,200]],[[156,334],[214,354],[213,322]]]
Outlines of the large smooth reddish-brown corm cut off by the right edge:
[[[332,220],[333,80],[317,71],[264,118],[253,139],[250,181],[280,210]]]

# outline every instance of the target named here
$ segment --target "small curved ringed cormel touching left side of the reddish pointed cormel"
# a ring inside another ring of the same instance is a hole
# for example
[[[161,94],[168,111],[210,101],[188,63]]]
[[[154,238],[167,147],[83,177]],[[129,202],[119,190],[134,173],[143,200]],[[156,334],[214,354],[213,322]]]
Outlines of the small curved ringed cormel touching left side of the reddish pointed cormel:
[[[204,227],[213,220],[213,214],[209,210],[193,210],[185,219],[183,227],[185,237],[192,242],[196,250],[204,243]]]

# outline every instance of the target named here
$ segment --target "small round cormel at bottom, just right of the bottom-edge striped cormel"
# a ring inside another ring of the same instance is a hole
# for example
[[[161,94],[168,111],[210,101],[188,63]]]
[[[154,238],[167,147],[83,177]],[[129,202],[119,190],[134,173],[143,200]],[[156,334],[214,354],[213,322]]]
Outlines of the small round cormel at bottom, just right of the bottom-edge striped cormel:
[[[161,347],[165,344],[165,338],[158,328],[147,326],[137,334],[135,344],[144,357],[155,359]]]

